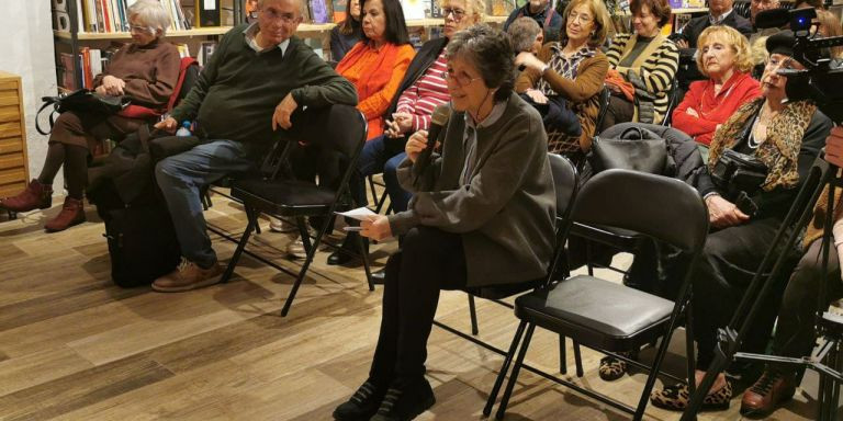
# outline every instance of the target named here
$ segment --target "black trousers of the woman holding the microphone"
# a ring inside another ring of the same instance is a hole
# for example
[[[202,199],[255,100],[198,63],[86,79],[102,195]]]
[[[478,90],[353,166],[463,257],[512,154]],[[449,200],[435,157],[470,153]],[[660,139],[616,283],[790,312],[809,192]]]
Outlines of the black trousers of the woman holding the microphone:
[[[437,228],[413,228],[386,262],[383,315],[370,380],[385,386],[425,374],[427,338],[439,291],[465,287],[462,237]]]

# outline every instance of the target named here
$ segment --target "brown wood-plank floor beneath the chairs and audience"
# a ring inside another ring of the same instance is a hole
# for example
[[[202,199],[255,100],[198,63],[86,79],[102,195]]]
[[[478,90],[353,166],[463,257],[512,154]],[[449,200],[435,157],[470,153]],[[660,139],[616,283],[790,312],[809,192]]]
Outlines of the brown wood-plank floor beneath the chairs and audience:
[[[366,378],[381,289],[368,291],[362,269],[328,268],[327,253],[317,254],[286,318],[279,310],[292,276],[248,257],[226,285],[182,294],[121,289],[109,278],[104,229],[93,209],[83,225],[44,234],[45,218],[57,212],[0,223],[0,420],[327,420]],[[238,206],[220,196],[206,216],[235,235],[245,226]],[[213,240],[227,261],[233,243]],[[251,250],[297,270],[283,259],[286,241],[265,230]],[[376,265],[394,248],[374,247]],[[468,330],[467,308],[464,294],[443,293],[437,319]],[[516,326],[512,310],[480,300],[479,314],[480,337],[506,348]],[[554,338],[537,332],[530,364],[558,368]],[[437,403],[419,419],[482,419],[502,357],[439,328],[428,350]],[[566,377],[634,405],[644,375],[607,384],[597,376],[598,359],[585,350],[585,377]],[[681,355],[670,354],[668,364],[682,373]],[[573,373],[573,359],[570,365]],[[813,405],[800,390],[771,419],[812,419]],[[700,419],[740,419],[739,407],[735,399],[729,411]],[[648,416],[678,419],[652,406]],[[520,376],[506,417],[626,418],[529,373]]]

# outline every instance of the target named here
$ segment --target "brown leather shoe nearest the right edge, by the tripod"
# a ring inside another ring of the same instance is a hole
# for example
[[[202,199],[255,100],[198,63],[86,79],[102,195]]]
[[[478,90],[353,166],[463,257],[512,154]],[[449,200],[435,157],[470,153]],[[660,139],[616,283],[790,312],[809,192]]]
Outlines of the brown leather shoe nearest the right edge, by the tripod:
[[[765,369],[761,378],[743,392],[741,413],[748,417],[766,417],[778,406],[794,397],[796,380],[793,373]]]

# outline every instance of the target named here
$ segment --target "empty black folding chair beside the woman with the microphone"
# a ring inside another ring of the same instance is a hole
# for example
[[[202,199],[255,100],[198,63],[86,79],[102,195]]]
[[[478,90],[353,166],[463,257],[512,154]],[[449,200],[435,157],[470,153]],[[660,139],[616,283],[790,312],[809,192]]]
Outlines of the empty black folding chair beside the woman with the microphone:
[[[637,408],[603,395],[588,394],[632,413],[636,420],[642,419],[677,320],[683,312],[689,314],[689,274],[694,271],[708,234],[708,212],[696,190],[666,177],[608,170],[583,186],[574,203],[572,219],[641,232],[689,253],[690,264],[686,269],[678,296],[675,301],[670,301],[621,284],[577,275],[516,298],[515,315],[521,321],[483,409],[486,416],[492,412],[517,351],[496,413],[498,420],[503,418],[532,333],[539,326],[575,338],[586,346],[608,352],[627,351],[663,337]],[[687,325],[690,326],[690,322]],[[693,335],[687,330],[686,335],[688,378],[693,379]]]

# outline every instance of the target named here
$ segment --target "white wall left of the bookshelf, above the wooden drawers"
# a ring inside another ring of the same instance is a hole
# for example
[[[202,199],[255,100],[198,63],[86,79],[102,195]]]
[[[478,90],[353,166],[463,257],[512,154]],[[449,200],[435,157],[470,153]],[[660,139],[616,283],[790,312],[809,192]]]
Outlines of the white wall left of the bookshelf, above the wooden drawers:
[[[30,178],[41,172],[47,138],[35,130],[41,98],[56,94],[53,23],[49,0],[0,0],[0,70],[19,75],[23,82]],[[54,183],[64,185],[59,172]]]

